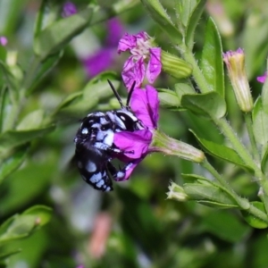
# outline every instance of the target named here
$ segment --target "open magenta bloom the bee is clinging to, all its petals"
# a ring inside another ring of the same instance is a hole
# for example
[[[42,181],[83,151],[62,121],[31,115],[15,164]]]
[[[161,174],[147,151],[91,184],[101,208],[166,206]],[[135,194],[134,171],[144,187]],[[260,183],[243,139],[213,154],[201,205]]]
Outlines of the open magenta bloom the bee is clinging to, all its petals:
[[[147,85],[146,89],[135,88],[130,100],[132,112],[143,122],[145,129],[130,131],[121,131],[114,134],[113,143],[122,151],[133,154],[122,154],[118,156],[124,163],[131,163],[124,177],[118,180],[128,180],[131,172],[140,163],[147,154],[153,152],[150,144],[153,138],[153,132],[157,128],[159,99],[157,91],[152,86]]]

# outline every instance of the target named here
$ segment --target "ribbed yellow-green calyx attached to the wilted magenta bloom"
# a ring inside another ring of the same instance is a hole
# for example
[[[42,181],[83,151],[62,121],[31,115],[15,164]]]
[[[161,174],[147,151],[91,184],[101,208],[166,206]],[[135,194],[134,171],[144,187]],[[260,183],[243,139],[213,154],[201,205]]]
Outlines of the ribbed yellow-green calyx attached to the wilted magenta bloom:
[[[179,57],[164,52],[161,53],[162,69],[177,79],[188,78],[192,73],[192,66]]]

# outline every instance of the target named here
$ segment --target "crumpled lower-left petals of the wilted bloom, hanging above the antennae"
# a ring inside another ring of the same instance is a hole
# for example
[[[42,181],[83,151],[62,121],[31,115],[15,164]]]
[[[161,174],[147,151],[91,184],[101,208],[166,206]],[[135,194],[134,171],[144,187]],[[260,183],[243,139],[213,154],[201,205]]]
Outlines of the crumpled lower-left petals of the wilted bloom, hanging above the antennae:
[[[136,82],[136,87],[140,87],[145,77],[145,71],[146,67],[143,59],[140,58],[138,62],[135,63],[133,56],[130,56],[127,62],[124,63],[123,71],[121,72],[121,77],[126,88],[130,90],[134,81]]]

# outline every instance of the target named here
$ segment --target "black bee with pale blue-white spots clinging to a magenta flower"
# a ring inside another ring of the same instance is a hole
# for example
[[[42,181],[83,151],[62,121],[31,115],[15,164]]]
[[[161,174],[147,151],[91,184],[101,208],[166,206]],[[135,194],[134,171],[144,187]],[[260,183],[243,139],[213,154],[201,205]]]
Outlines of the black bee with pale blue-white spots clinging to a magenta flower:
[[[76,133],[75,158],[80,174],[89,185],[102,191],[113,190],[113,180],[124,177],[131,163],[117,170],[111,162],[118,154],[133,154],[122,152],[113,144],[115,132],[144,130],[141,121],[130,111],[130,97],[135,88],[133,83],[126,105],[121,102],[113,84],[108,80],[113,94],[118,99],[121,109],[108,112],[89,113],[82,119],[80,129]]]

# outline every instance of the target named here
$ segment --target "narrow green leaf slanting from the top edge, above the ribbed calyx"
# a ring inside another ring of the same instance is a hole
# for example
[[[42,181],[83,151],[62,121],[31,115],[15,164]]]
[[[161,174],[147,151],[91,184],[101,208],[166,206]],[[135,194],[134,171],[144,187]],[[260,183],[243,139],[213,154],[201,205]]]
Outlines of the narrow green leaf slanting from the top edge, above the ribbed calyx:
[[[166,13],[163,5],[158,0],[141,0],[148,13],[156,23],[169,35],[169,37],[176,43],[182,42],[182,35],[180,30],[176,28],[170,16]]]

